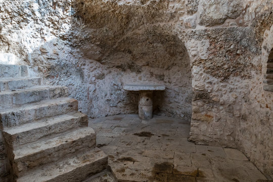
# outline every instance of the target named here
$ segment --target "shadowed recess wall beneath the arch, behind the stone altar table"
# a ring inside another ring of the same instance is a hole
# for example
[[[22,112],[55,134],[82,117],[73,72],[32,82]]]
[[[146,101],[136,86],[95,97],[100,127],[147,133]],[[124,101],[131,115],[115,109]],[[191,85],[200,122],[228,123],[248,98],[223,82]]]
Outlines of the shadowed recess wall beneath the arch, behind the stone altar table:
[[[109,85],[103,86],[110,90],[112,96],[107,95],[105,97],[107,100],[99,96],[102,99],[100,102],[109,102],[105,107],[108,107],[110,115],[138,112],[138,95],[125,92],[122,85],[164,84],[165,92],[154,93],[156,98],[153,100],[154,113],[190,121],[192,115],[190,58],[183,40],[172,32],[171,27],[151,26],[142,31],[132,32],[120,40],[99,62],[109,70],[105,73],[106,80],[112,80],[108,82]],[[114,90],[114,84],[119,85],[120,90]],[[118,97],[113,94],[115,92]],[[101,95],[99,90],[97,94]],[[131,100],[136,102],[129,102]]]

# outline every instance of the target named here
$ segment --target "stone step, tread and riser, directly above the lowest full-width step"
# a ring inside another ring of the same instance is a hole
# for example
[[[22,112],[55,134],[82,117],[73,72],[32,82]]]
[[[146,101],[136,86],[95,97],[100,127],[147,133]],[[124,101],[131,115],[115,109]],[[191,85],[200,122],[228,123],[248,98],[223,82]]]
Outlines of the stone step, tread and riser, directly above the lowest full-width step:
[[[33,143],[14,148],[13,172],[21,176],[31,168],[58,161],[78,152],[89,151],[96,147],[96,133],[93,128],[83,127],[61,133],[54,138],[43,138]],[[12,151],[12,149],[8,149]],[[10,154],[11,152],[9,152]]]

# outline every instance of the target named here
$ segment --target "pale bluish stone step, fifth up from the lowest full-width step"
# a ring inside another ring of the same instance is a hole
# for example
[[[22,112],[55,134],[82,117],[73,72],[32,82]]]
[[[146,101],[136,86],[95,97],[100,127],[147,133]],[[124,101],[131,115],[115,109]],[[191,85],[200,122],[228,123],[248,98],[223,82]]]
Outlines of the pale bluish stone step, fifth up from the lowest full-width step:
[[[16,91],[0,92],[0,110],[9,109],[14,105],[23,105],[42,100],[67,97],[68,90],[65,86],[33,86]]]

